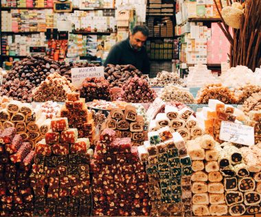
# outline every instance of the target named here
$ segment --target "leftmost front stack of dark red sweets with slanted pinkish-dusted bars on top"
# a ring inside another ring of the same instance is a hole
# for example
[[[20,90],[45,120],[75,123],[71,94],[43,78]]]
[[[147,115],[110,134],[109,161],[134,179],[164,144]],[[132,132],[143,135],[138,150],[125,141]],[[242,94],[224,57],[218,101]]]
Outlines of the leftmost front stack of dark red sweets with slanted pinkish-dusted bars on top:
[[[35,152],[15,128],[0,133],[0,216],[32,216],[34,195],[30,170]]]

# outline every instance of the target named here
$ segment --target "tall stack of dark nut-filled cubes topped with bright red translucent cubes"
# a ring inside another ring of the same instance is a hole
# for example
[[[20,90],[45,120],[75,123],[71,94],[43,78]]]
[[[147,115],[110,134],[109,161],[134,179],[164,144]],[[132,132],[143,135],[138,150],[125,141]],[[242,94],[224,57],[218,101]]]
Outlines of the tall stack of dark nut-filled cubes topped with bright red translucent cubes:
[[[36,144],[30,176],[35,216],[89,216],[91,187],[89,139],[78,139],[67,118],[52,119],[45,139]]]

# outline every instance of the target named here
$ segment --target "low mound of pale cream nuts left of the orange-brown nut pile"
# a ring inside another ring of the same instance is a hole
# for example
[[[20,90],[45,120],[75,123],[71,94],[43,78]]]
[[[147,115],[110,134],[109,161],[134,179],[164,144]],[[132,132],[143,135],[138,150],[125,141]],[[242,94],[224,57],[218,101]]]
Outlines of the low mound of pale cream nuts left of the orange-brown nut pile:
[[[188,91],[188,89],[172,84],[169,84],[168,86],[164,87],[159,97],[161,98],[161,100],[165,102],[175,101],[184,104],[194,103],[193,95],[190,93],[190,91]]]

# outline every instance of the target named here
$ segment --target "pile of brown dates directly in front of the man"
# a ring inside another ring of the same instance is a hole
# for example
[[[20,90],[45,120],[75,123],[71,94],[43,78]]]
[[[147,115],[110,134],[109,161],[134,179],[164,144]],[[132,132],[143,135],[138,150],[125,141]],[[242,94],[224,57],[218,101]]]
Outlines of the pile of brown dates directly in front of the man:
[[[135,76],[141,77],[142,73],[133,65],[108,64],[104,69],[104,76],[110,82],[111,87],[122,87],[125,82]]]

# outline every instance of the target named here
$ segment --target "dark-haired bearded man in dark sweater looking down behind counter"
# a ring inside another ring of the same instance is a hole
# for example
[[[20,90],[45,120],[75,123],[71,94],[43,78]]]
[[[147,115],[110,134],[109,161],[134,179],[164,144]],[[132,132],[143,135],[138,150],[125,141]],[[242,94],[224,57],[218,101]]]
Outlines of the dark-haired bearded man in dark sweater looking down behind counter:
[[[136,25],[130,32],[130,36],[117,43],[104,62],[113,65],[134,65],[142,73],[150,72],[150,62],[144,43],[148,38],[149,30],[145,25]]]

